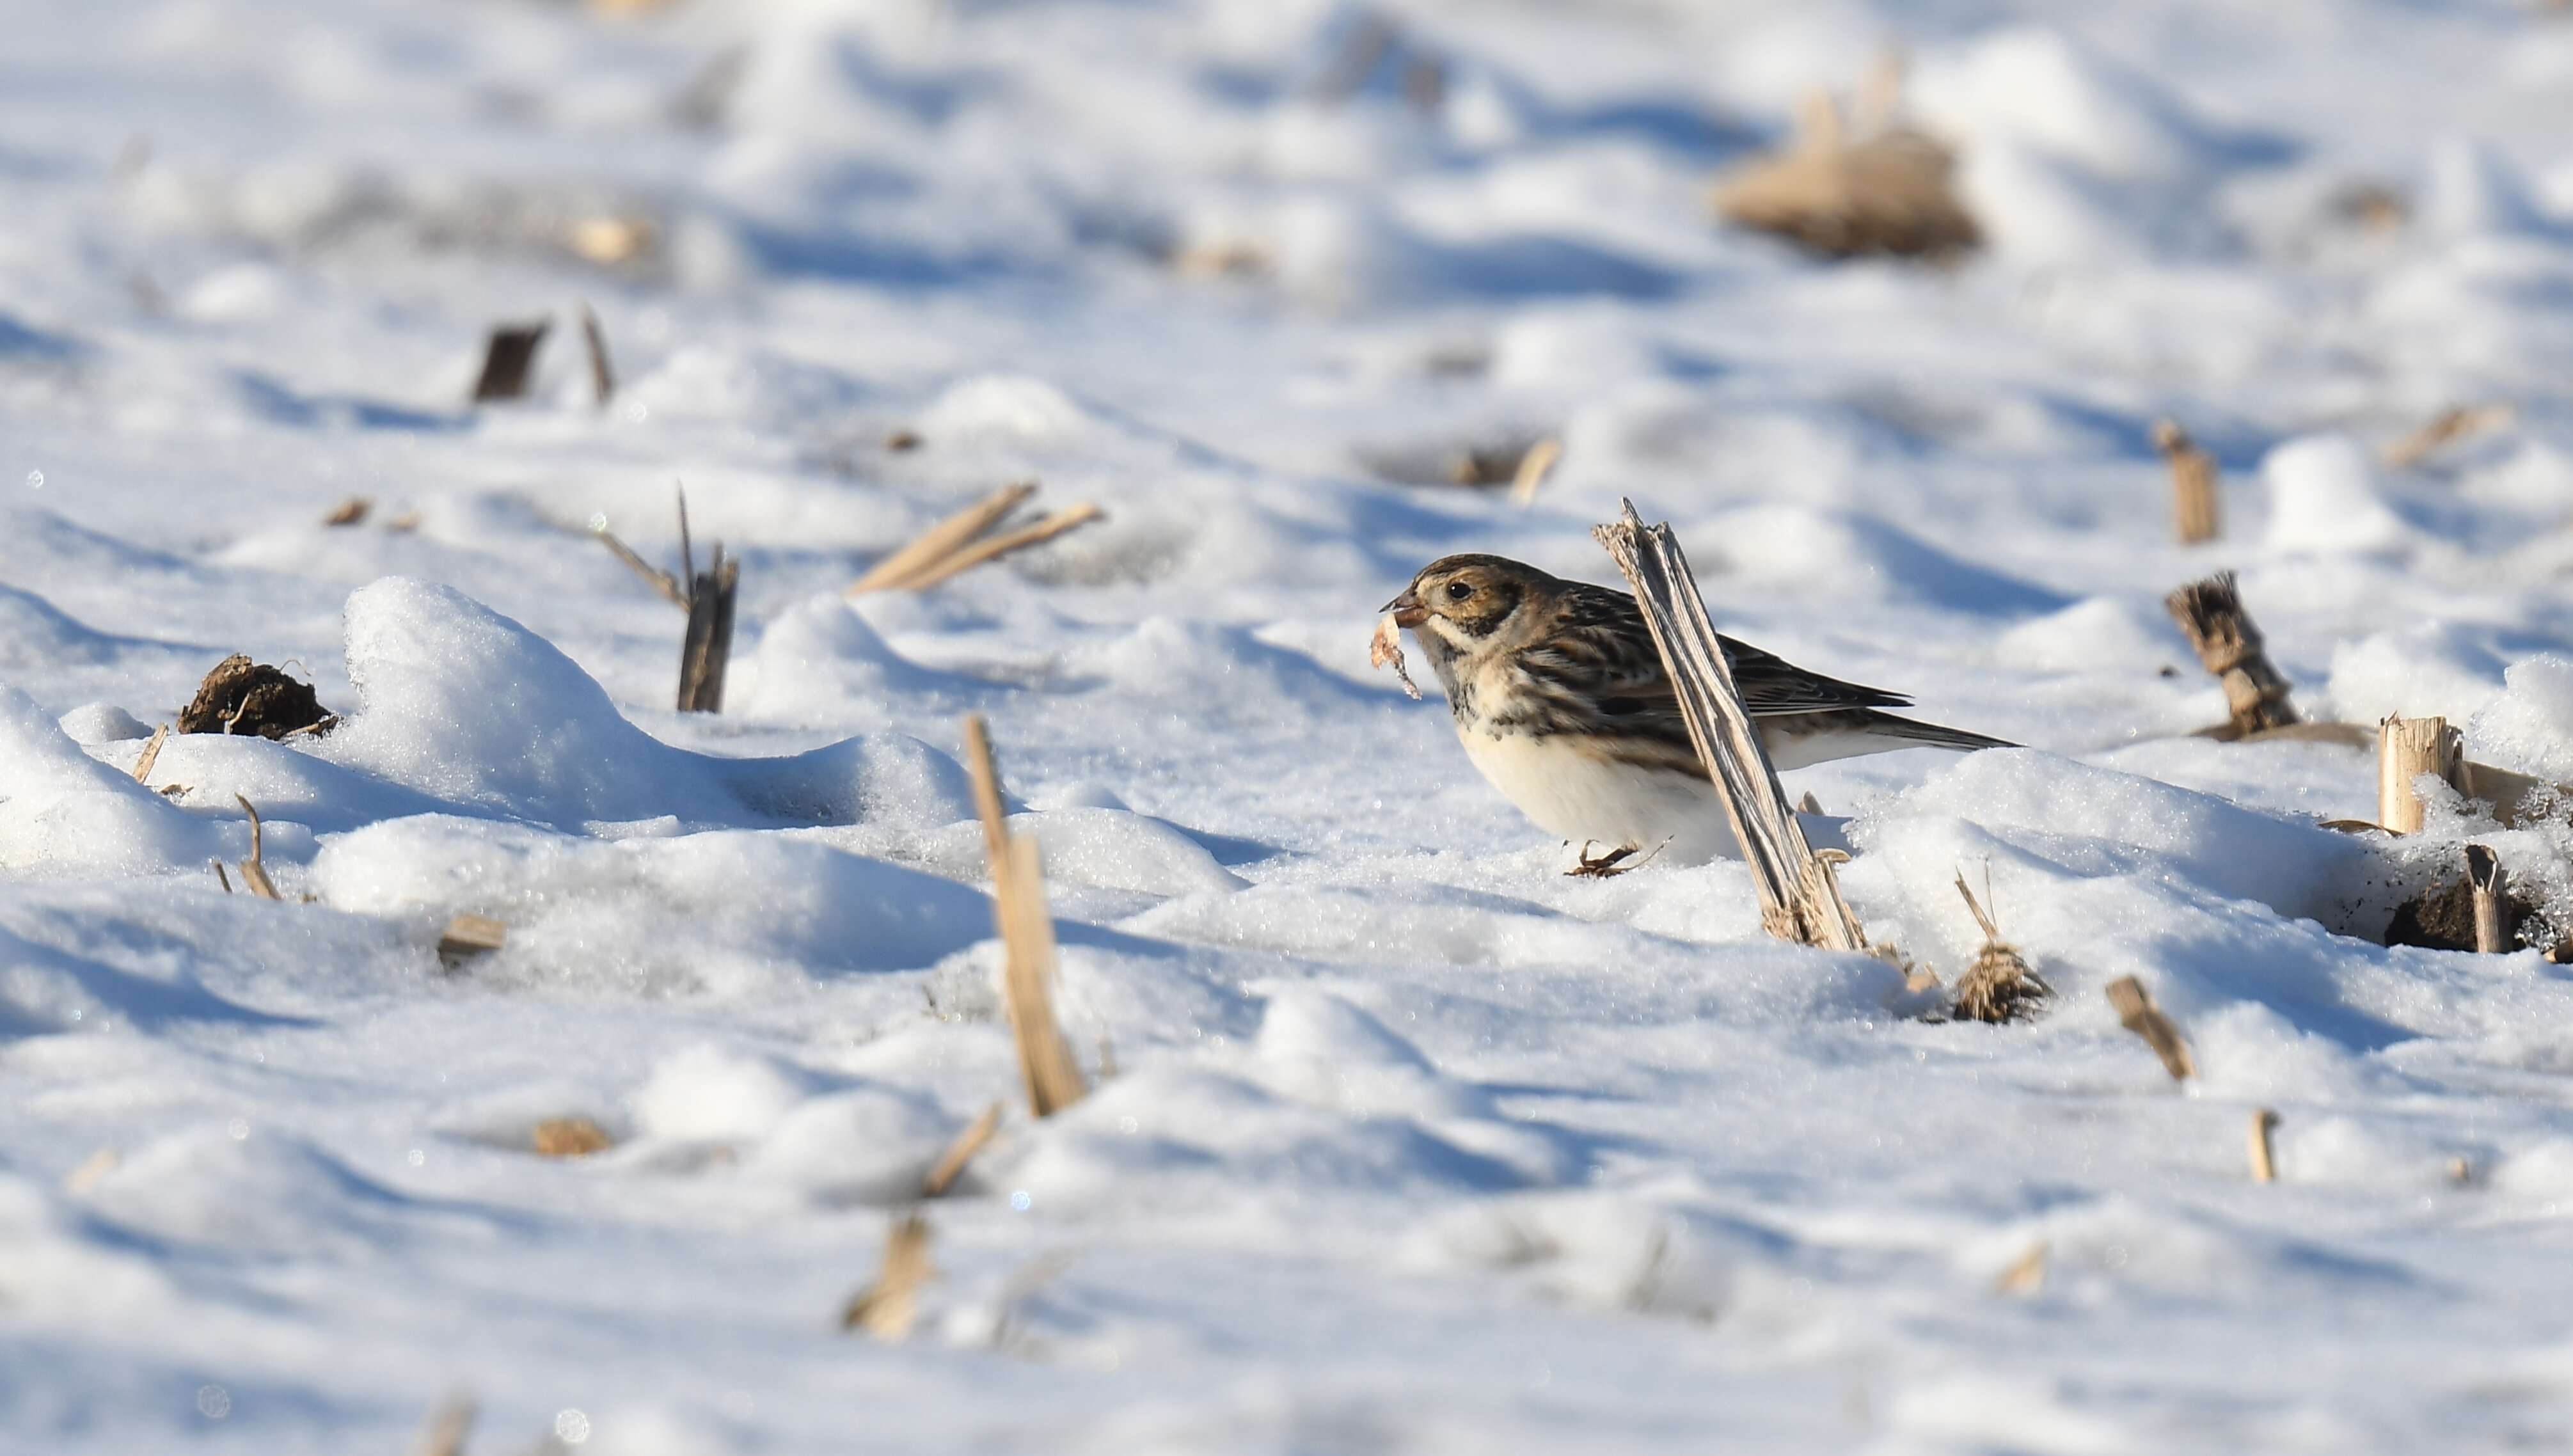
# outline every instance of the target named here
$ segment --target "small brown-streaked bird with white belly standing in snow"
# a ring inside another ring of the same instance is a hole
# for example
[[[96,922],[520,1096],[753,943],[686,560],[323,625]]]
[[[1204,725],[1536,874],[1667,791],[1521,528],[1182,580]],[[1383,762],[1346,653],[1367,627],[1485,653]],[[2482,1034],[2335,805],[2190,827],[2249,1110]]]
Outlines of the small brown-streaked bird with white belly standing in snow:
[[[1443,556],[1382,610],[1438,674],[1467,759],[1539,828],[1582,846],[1570,875],[1616,875],[1636,854],[1693,864],[1732,851],[1732,826],[1634,597],[1505,556]],[[1778,769],[1919,746],[2017,746],[1899,718],[1886,713],[1912,705],[1899,692],[1719,641]],[[1606,854],[1590,851],[1598,844]]]

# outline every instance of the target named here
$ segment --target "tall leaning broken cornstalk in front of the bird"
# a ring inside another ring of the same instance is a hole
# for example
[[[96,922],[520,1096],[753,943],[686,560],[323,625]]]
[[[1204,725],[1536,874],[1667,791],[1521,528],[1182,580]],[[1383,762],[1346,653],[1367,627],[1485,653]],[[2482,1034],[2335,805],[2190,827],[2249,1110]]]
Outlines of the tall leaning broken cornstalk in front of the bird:
[[[1680,697],[1688,738],[1742,844],[1752,887],[1760,890],[1760,929],[1809,947],[1865,952],[1868,931],[1840,898],[1832,864],[1806,844],[1760,731],[1742,707],[1734,669],[1670,522],[1644,525],[1634,502],[1624,504],[1624,520],[1590,527],[1590,535],[1608,548],[1644,610],[1652,646]]]

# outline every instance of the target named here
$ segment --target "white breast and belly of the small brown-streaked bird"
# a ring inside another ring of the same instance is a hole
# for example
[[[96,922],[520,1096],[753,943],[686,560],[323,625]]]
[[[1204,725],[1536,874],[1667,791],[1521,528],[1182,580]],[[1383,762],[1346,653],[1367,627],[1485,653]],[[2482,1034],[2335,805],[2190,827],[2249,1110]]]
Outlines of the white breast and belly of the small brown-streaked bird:
[[[1464,756],[1518,813],[1559,839],[1600,849],[1662,849],[1662,859],[1696,864],[1737,854],[1716,790],[1693,774],[1642,769],[1585,754],[1564,733],[1485,733],[1459,728]]]

